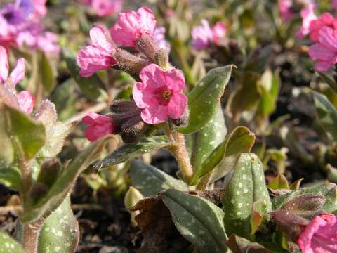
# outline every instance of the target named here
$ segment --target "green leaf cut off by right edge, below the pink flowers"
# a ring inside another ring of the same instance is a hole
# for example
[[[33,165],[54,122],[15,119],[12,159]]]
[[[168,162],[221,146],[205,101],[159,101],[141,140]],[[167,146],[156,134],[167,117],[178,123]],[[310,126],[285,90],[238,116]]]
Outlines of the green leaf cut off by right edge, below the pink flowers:
[[[313,91],[319,124],[333,141],[337,141],[337,110],[326,96]]]

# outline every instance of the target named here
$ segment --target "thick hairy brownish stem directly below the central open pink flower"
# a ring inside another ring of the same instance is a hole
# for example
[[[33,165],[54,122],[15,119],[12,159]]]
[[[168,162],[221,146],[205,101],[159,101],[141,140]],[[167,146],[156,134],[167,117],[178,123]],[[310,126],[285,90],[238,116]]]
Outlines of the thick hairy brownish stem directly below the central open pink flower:
[[[187,153],[185,138],[183,134],[180,134],[177,131],[171,131],[167,126],[164,127],[164,131],[169,138],[169,141],[174,144],[171,150],[176,157],[181,171],[183,171],[185,180],[188,182],[192,179],[193,169],[190,162],[190,156]]]

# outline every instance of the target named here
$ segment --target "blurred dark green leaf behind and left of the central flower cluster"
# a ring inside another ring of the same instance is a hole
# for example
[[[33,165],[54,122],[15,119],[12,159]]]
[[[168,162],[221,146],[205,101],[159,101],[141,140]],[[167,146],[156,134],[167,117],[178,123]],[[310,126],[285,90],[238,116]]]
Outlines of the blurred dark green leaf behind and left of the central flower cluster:
[[[62,54],[67,62],[68,70],[72,78],[77,82],[79,89],[81,89],[84,95],[93,101],[105,100],[105,98],[107,98],[105,84],[100,77],[98,77],[98,74],[93,74],[91,77],[81,77],[74,53],[70,50],[64,50]]]

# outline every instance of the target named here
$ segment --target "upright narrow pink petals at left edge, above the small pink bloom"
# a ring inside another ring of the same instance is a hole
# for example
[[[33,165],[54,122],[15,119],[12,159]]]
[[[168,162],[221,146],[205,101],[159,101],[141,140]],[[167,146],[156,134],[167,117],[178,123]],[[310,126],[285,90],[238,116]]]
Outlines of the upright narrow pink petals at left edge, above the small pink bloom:
[[[0,46],[0,83],[9,82],[13,88],[25,78],[25,60],[20,58],[8,78],[8,56],[6,49]]]

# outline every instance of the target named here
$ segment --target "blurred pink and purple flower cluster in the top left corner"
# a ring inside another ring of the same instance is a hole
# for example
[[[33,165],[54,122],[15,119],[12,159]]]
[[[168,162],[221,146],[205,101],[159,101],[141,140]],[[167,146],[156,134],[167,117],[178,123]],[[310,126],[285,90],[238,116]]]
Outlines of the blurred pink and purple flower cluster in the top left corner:
[[[39,20],[46,15],[46,0],[16,0],[0,8],[0,45],[58,53],[56,34],[46,32]]]

